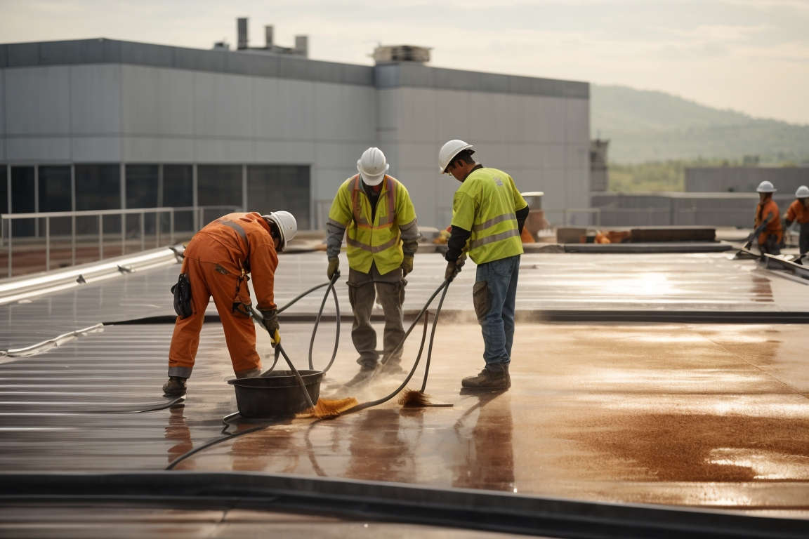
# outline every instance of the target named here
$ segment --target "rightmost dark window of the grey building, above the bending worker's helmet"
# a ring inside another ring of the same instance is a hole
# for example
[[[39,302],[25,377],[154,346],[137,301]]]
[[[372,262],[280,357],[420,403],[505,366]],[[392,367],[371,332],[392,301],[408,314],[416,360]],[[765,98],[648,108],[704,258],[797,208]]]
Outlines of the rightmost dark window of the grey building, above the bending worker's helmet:
[[[299,229],[309,229],[311,187],[309,166],[248,166],[248,211],[269,213],[279,209],[295,216]]]

